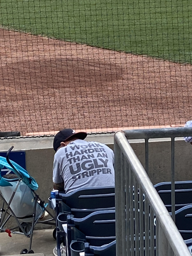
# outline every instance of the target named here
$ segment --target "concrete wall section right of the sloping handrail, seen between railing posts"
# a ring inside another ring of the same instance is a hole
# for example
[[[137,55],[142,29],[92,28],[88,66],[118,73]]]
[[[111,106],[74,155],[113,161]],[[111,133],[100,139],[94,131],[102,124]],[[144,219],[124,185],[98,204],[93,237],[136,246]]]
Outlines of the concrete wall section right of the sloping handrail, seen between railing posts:
[[[145,165],[144,143],[133,143],[132,147],[139,160]],[[175,179],[192,180],[192,146],[178,139],[175,142]],[[152,183],[171,180],[171,141],[149,143],[149,177]]]

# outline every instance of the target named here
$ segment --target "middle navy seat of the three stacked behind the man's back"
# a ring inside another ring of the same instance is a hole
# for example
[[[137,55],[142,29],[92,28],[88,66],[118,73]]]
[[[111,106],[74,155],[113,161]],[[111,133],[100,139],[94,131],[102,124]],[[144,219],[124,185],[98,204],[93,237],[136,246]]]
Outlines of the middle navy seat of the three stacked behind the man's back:
[[[115,210],[97,211],[82,219],[67,216],[67,224],[58,216],[67,235],[68,248],[72,241],[88,242],[91,246],[102,246],[116,239]]]

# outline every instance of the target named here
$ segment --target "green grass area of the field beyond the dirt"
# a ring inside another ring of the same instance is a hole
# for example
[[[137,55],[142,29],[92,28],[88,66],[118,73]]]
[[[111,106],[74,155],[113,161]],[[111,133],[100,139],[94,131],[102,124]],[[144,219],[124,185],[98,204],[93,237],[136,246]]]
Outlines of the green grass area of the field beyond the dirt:
[[[192,62],[192,0],[0,0],[0,24],[35,35]]]

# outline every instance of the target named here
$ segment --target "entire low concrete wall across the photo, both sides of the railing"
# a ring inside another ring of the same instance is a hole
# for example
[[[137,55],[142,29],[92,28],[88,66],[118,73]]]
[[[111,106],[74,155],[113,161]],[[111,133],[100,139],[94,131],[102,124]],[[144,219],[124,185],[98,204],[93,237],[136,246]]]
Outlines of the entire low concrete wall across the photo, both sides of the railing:
[[[107,144],[113,149],[113,134],[89,135],[87,140]],[[144,165],[144,141],[130,141],[133,150]],[[38,193],[47,202],[52,185],[54,159],[53,137],[3,139],[0,151],[14,145],[15,151],[25,151],[26,169],[39,185]],[[175,141],[176,180],[192,180],[192,146],[183,138]],[[149,142],[149,176],[153,184],[171,179],[171,141],[154,139]]]

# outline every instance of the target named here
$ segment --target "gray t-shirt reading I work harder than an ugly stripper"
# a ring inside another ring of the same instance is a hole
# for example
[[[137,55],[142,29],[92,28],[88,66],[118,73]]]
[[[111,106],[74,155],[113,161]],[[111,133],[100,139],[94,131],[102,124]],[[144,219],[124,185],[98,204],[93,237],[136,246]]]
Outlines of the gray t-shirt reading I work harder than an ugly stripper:
[[[55,153],[53,182],[64,181],[66,193],[82,187],[114,186],[113,161],[108,146],[76,139]]]

